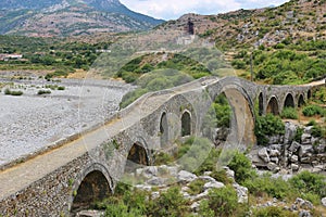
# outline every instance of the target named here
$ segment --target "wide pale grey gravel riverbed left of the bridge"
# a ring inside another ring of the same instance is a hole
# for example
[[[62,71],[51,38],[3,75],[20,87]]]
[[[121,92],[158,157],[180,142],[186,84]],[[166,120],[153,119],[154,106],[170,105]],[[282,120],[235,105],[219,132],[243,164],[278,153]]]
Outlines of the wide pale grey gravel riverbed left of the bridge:
[[[113,80],[10,80],[0,92],[0,166],[103,123],[135,87]],[[64,87],[64,90],[58,90]],[[23,95],[4,94],[21,90]],[[51,89],[52,88],[52,89]],[[38,94],[50,90],[50,94]]]

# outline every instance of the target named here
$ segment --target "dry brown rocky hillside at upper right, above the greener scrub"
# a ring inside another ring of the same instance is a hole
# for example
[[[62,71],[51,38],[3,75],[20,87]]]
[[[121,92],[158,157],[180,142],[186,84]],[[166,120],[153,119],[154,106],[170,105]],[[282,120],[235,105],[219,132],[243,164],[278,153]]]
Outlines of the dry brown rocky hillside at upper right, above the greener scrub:
[[[326,1],[291,0],[277,8],[239,10],[218,15],[186,14],[161,29],[181,29],[188,18],[196,34],[216,41],[217,47],[272,47],[284,40],[326,39]]]

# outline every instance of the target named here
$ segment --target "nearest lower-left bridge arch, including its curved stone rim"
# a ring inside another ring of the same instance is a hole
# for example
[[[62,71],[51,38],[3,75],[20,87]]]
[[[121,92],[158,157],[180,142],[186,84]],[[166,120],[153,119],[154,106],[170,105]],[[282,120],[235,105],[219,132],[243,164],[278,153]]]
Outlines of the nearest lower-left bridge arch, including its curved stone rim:
[[[71,213],[89,208],[89,206],[112,194],[112,178],[106,168],[101,164],[88,167],[76,181],[72,195]]]

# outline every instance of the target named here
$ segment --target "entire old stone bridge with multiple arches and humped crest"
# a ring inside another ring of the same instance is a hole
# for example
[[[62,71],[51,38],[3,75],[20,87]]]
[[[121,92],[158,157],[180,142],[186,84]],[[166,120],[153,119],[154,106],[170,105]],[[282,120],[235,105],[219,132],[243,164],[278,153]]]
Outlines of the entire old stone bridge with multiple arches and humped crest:
[[[255,113],[301,106],[311,86],[260,86],[238,77],[208,77],[142,95],[131,105],[61,146],[0,171],[0,216],[59,216],[112,193],[134,162],[153,163],[155,150],[183,137],[203,136],[214,99],[233,108],[233,142],[255,143]],[[127,161],[129,159],[129,161]]]

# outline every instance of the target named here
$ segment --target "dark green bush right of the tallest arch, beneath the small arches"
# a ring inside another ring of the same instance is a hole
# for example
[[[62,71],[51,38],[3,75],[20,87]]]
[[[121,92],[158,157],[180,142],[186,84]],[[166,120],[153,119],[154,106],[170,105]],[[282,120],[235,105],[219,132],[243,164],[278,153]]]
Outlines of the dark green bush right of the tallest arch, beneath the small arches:
[[[266,116],[258,116],[254,124],[254,135],[258,143],[261,145],[267,144],[266,136],[284,135],[285,125],[281,119],[272,114]]]

